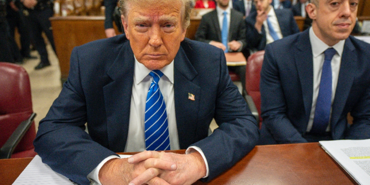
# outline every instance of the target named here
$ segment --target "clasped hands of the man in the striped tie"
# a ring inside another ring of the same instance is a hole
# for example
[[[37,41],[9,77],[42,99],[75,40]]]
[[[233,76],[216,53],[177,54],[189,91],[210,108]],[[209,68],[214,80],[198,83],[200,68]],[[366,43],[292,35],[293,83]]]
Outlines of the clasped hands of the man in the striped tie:
[[[177,154],[143,151],[111,159],[99,171],[102,185],[191,185],[206,175],[199,152]]]

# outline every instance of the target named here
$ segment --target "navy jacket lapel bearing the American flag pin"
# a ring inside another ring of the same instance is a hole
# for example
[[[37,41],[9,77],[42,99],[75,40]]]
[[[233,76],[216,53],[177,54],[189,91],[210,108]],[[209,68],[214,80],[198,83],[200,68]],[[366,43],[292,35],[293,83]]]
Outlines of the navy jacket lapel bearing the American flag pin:
[[[185,43],[186,44],[186,43]],[[188,147],[188,140],[195,137],[198,110],[200,103],[200,87],[192,80],[197,75],[194,67],[180,47],[174,61],[174,91],[177,132],[180,148]],[[194,101],[188,99],[188,93],[194,95]]]

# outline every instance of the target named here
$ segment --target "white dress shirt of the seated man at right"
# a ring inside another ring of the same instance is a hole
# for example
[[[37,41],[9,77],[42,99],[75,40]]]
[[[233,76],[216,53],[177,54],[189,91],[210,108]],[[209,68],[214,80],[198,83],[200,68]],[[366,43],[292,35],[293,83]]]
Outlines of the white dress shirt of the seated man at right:
[[[310,37],[312,57],[313,57],[313,94],[312,94],[312,108],[311,108],[310,118],[308,120],[308,125],[307,125],[307,130],[306,130],[307,132],[311,131],[313,119],[315,117],[316,102],[317,102],[317,97],[319,95],[321,73],[323,71],[324,58],[325,58],[324,51],[327,50],[328,48],[331,48],[329,45],[324,43],[322,40],[320,40],[320,38],[318,38],[315,35],[312,27],[309,30],[309,37]],[[335,97],[336,85],[338,83],[340,62],[342,60],[344,42],[345,40],[340,40],[338,43],[332,46],[336,51],[336,53],[333,56],[332,62],[331,62],[331,65],[332,65],[332,104],[333,104],[334,97]],[[330,119],[331,118],[332,118],[332,108],[330,110]],[[327,132],[330,131],[330,121],[329,121],[329,125],[326,131]]]

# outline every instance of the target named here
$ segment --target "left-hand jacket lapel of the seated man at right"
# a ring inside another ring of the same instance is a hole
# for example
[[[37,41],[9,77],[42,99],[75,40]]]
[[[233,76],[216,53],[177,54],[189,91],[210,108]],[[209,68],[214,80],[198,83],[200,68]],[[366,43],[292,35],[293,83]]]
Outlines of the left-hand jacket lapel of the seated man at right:
[[[308,31],[309,29],[307,29],[298,37],[296,42],[297,51],[294,52],[296,68],[302,88],[304,110],[307,115],[306,123],[308,122],[312,107],[313,93],[313,57]]]

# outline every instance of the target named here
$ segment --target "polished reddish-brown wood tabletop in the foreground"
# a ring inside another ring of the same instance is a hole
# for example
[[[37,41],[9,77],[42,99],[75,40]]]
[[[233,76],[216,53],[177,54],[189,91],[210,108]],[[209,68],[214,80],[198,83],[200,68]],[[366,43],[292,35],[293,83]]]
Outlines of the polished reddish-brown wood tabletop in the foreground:
[[[31,160],[32,158],[1,159],[0,184],[11,185]],[[308,143],[256,146],[216,179],[209,183],[198,181],[195,185],[356,185],[356,183],[318,143]]]

